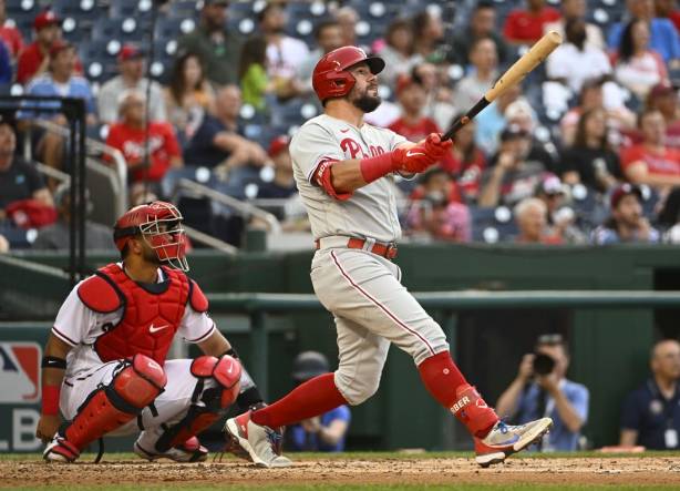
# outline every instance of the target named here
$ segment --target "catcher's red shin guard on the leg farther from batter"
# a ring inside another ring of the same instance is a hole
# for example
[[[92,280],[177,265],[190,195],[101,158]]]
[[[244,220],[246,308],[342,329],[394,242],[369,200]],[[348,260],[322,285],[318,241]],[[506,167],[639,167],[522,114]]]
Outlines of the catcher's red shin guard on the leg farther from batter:
[[[113,380],[92,392],[60,434],[82,450],[97,438],[134,419],[165,387],[163,368],[144,355],[121,362]]]

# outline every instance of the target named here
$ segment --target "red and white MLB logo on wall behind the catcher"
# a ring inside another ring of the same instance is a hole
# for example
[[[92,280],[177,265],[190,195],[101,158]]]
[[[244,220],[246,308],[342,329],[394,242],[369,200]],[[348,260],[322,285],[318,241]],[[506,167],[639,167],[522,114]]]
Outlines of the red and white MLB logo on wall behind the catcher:
[[[40,360],[37,342],[0,342],[0,403],[40,401]]]

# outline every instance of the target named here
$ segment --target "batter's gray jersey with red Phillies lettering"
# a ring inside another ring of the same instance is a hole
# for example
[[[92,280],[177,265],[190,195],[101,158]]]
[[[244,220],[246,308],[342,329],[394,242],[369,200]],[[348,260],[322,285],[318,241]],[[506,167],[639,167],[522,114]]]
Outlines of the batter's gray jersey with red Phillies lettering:
[[[365,158],[392,152],[406,142],[391,130],[353,126],[321,114],[305,123],[290,142],[292,168],[315,238],[333,235],[394,242],[401,237],[394,178],[390,175],[337,200],[312,184],[318,166],[329,161]]]

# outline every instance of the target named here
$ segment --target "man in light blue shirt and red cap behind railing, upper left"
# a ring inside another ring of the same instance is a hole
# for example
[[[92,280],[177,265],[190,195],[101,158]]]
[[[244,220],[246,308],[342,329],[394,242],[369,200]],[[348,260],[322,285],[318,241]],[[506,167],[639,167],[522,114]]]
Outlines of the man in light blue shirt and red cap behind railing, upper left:
[[[34,78],[27,88],[29,95],[44,95],[51,98],[80,98],[85,101],[87,111],[87,124],[95,124],[95,108],[92,88],[86,79],[75,74],[75,48],[62,40],[52,43],[49,52],[49,71],[48,73]],[[51,120],[53,123],[65,125],[66,117],[63,114],[51,112],[39,112],[34,114],[25,111],[21,114],[22,117],[34,117],[42,120]],[[53,168],[63,168],[63,152],[65,141],[62,135],[51,132],[38,132],[39,143],[37,154],[39,157]]]

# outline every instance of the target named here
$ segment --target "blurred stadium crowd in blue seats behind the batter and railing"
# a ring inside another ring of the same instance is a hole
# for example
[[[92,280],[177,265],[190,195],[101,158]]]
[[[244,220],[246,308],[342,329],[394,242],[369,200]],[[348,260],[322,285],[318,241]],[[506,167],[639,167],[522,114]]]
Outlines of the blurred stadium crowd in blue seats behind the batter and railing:
[[[465,126],[439,166],[398,178],[406,237],[680,239],[680,10],[672,0],[161,3],[152,45],[151,0],[0,0],[3,92],[83,98],[89,135],[125,158],[132,203],[179,201],[192,226],[239,245],[244,218],[174,193],[186,177],[274,212],[284,229],[305,229],[281,154],[320,111],[311,72],[321,55],[344,44],[381,55],[383,103],[368,121],[418,141],[446,130],[557,30],[563,45]],[[64,116],[10,116],[0,124],[8,130],[0,131],[8,133],[0,140],[6,249],[11,228],[40,236],[63,208],[52,198],[59,182],[16,153],[32,121],[64,125]],[[39,130],[30,141],[35,161],[68,170],[62,135]]]

